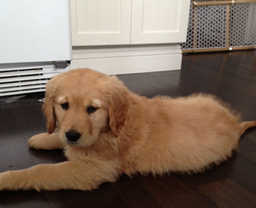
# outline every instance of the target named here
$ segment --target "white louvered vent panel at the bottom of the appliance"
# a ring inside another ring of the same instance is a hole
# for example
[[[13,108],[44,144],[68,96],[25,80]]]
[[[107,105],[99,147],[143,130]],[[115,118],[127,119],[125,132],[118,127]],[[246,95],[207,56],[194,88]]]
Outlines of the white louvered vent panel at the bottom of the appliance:
[[[46,82],[57,73],[54,68],[0,69],[0,96],[45,91]]]

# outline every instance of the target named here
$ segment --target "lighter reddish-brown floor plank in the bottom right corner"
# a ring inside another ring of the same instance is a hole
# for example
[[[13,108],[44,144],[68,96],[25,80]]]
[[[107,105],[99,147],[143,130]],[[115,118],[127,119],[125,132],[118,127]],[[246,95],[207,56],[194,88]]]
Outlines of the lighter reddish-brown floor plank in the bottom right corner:
[[[226,179],[198,187],[218,207],[251,208],[256,204],[256,196],[233,179]]]

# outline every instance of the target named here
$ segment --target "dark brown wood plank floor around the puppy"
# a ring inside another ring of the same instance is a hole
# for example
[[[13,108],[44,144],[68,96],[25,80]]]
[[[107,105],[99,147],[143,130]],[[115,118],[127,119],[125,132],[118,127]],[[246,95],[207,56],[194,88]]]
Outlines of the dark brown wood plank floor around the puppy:
[[[121,66],[120,66],[121,67]],[[185,55],[181,71],[119,75],[134,92],[220,96],[256,120],[256,50]],[[42,93],[0,102],[0,172],[64,161],[62,151],[36,151],[26,141],[45,132]],[[233,158],[206,173],[121,176],[94,191],[2,191],[0,207],[256,207],[256,129],[248,130]]]

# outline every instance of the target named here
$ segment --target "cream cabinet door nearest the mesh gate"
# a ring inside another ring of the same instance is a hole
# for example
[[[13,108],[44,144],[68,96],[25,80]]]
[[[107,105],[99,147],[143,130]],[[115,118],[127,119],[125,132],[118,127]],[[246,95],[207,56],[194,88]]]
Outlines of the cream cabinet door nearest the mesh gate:
[[[190,0],[135,0],[131,44],[186,41]]]

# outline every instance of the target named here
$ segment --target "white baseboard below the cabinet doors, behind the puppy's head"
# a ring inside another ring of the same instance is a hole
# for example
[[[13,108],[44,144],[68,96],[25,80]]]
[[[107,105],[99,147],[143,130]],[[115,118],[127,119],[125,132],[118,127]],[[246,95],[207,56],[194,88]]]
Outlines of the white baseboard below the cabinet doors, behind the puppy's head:
[[[107,75],[180,69],[178,44],[74,47],[70,69],[90,68]]]

